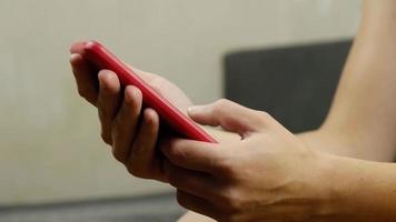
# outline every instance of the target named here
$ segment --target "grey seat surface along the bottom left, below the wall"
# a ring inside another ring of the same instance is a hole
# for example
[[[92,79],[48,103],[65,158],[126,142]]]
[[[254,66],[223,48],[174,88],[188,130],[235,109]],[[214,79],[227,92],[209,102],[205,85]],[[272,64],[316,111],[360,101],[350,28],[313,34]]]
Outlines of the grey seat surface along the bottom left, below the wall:
[[[7,222],[174,222],[186,210],[175,193],[65,203],[0,206]]]

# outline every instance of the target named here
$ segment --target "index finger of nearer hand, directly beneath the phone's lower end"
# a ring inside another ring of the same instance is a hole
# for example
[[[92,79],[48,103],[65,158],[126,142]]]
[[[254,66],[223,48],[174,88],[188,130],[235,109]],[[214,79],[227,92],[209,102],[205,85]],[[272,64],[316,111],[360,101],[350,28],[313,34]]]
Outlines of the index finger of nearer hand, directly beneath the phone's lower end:
[[[169,140],[160,149],[172,164],[207,173],[216,173],[216,164],[224,158],[218,144],[191,140]]]

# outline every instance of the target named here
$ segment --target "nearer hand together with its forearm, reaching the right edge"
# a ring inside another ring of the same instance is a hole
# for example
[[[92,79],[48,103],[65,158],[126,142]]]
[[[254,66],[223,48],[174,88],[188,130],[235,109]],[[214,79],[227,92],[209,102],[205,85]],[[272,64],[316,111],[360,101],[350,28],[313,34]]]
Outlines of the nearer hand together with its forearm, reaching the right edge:
[[[194,108],[189,115],[242,140],[161,144],[169,183],[186,209],[217,221],[396,219],[395,164],[310,149],[268,113],[227,100]]]

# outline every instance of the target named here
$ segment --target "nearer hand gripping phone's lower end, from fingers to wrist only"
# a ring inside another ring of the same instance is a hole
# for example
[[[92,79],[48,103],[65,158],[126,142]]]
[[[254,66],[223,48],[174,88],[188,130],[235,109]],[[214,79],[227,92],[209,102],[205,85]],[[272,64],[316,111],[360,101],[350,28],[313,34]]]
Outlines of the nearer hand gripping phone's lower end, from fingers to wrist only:
[[[177,139],[161,145],[179,204],[228,222],[329,216],[330,155],[308,149],[267,113],[227,100],[191,109],[189,115],[242,139],[232,144]]]

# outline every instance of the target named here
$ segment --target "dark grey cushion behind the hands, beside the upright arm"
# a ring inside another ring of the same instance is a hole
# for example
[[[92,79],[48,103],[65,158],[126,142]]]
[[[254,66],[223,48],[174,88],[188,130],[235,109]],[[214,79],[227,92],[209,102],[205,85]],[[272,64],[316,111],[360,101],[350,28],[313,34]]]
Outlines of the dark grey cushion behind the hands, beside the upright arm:
[[[226,98],[264,110],[294,132],[318,128],[350,41],[239,51],[225,58]]]

